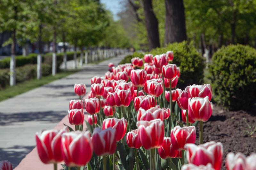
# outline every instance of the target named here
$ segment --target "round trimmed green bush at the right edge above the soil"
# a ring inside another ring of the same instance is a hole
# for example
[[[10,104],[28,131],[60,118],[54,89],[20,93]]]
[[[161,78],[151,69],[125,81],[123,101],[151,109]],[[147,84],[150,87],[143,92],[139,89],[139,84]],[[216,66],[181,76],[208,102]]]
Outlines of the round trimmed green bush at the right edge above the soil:
[[[222,47],[209,66],[214,100],[230,110],[250,110],[256,96],[256,50],[249,46]]]

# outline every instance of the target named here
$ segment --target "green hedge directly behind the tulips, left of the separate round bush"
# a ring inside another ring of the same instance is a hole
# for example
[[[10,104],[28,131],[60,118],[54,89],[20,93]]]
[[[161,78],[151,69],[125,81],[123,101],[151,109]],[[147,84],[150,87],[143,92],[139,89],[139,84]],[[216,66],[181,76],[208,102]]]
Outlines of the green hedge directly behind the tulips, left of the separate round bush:
[[[186,86],[192,84],[202,84],[204,78],[204,58],[196,51],[192,43],[187,41],[181,43],[168,44],[166,47],[156,48],[150,52],[153,55],[173,51],[173,64],[180,67],[180,78],[178,81],[178,88],[184,89]],[[143,58],[144,53],[134,53],[126,56],[120,64],[130,63],[133,57]]]

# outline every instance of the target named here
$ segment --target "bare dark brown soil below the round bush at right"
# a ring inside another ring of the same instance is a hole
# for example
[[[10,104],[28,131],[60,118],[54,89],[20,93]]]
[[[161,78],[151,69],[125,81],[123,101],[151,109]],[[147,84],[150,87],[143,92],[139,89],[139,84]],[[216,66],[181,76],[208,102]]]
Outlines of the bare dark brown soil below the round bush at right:
[[[252,127],[249,129],[248,124]],[[204,122],[204,143],[209,141],[221,142],[223,145],[223,166],[229,152],[241,152],[246,156],[256,152],[256,132],[250,134],[256,126],[256,111],[225,111],[219,106],[213,106],[211,118]],[[199,124],[196,129],[199,137]],[[198,144],[199,139],[196,139]]]

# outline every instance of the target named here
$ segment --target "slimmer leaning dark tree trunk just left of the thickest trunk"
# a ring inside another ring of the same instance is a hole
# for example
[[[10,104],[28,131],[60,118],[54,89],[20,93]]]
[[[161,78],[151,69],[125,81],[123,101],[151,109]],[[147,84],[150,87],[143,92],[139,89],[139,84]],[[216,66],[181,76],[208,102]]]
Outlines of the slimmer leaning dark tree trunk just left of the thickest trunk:
[[[148,32],[148,50],[160,47],[158,21],[152,7],[152,0],[143,0],[145,21]]]

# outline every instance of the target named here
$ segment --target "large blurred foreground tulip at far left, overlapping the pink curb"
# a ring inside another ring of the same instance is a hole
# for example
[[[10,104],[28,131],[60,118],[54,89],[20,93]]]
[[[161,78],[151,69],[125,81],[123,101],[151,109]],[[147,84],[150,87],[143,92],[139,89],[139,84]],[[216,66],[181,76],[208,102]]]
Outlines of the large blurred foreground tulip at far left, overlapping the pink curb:
[[[65,126],[60,131],[48,130],[36,132],[36,146],[39,158],[45,164],[58,163],[63,160],[61,157],[61,135],[68,132],[68,127]]]

